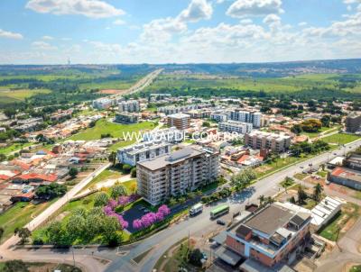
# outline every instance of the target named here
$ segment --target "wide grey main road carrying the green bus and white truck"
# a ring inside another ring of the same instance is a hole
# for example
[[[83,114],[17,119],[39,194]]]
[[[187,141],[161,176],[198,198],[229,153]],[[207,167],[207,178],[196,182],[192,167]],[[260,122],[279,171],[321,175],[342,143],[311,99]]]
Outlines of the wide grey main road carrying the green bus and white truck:
[[[230,205],[231,213],[243,210],[247,202],[257,202],[257,198],[260,195],[271,196],[276,194],[282,188],[279,186],[280,181],[284,177],[292,177],[295,173],[301,172],[302,168],[307,168],[310,163],[314,166],[325,163],[329,159],[333,159],[336,156],[343,155],[348,150],[355,150],[361,143],[361,140],[355,141],[341,147],[338,150],[333,150],[328,153],[321,154],[315,158],[302,161],[292,167],[282,169],[281,171],[274,173],[271,176],[264,177],[254,186],[248,188],[246,191],[242,192],[239,195],[232,196],[232,198],[225,200]],[[109,266],[106,267],[105,271],[152,271],[153,266],[158,258],[162,257],[162,254],[171,247],[178,240],[187,237],[189,234],[197,233],[197,235],[202,235],[203,233],[208,233],[209,231],[215,231],[219,226],[209,220],[209,211],[213,207],[205,207],[204,212],[199,214],[194,218],[190,218],[184,222],[173,225],[171,228],[168,228],[164,231],[158,232],[152,237],[138,242],[134,245],[123,246],[118,250],[125,252],[125,255],[117,254],[114,249],[76,249],[75,258],[76,261],[84,264],[84,267],[87,268],[87,271],[103,271],[99,270],[97,267],[92,267],[87,265],[88,261],[94,260],[91,257],[91,252],[94,250],[94,256],[97,258],[106,258],[112,260]],[[153,248],[151,254],[148,254],[143,258],[141,266],[137,266],[132,262],[132,258],[138,256],[144,251]],[[119,253],[119,252],[118,252]],[[39,249],[36,251],[28,251],[24,249],[19,249],[15,251],[15,254],[20,254],[23,258],[32,259],[33,261],[40,259],[71,259],[71,252],[57,252],[51,249]],[[87,259],[87,261],[85,261]],[[327,271],[327,270],[326,270]]]

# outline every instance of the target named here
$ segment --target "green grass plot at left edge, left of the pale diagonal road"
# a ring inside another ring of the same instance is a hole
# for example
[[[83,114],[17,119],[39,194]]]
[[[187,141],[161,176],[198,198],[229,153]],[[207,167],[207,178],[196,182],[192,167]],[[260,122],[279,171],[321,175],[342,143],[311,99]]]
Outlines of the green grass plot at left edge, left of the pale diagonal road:
[[[39,215],[56,199],[53,199],[51,202],[46,202],[43,204],[31,204],[19,202],[14,204],[9,210],[5,213],[0,214],[0,226],[5,229],[3,241],[14,234],[15,228],[22,228],[25,224],[32,221],[32,218]]]

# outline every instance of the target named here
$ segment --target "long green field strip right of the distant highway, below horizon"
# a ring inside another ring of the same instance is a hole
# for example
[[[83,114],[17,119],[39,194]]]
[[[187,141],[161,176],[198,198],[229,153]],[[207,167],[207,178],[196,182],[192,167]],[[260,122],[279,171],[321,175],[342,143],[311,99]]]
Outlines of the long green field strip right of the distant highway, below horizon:
[[[295,92],[312,87],[338,88],[337,74],[312,74],[294,77],[251,78],[220,77],[208,75],[161,75],[157,77],[150,90],[170,88],[218,88],[227,87],[244,91]],[[361,92],[361,83],[347,91]]]

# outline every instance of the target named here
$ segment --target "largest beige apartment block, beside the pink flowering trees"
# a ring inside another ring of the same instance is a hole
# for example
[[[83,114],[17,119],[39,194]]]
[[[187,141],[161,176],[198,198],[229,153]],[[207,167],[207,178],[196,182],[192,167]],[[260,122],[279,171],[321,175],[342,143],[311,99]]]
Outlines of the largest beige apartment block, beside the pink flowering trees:
[[[219,173],[219,152],[187,147],[156,159],[138,162],[138,194],[150,204],[195,190]]]

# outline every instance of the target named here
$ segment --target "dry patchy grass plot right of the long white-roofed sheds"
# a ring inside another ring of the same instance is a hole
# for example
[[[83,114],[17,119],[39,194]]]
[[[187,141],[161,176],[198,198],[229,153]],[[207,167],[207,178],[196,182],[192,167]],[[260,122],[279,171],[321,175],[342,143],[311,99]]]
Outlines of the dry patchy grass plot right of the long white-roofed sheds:
[[[319,230],[319,235],[328,240],[336,241],[338,240],[339,236],[347,231],[343,230],[343,228],[347,225],[347,222],[351,219],[356,220],[359,215],[359,206],[356,204],[347,203],[342,206],[341,212],[336,214],[327,226]]]

